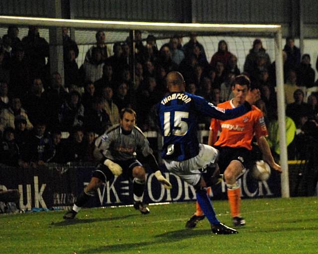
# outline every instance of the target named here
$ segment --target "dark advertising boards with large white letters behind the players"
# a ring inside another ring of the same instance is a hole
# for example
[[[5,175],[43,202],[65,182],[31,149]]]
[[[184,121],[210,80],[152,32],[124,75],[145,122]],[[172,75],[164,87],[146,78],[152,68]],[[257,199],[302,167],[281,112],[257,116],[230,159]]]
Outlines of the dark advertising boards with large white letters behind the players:
[[[94,170],[93,164],[71,163],[67,165],[48,164],[41,168],[14,168],[0,165],[0,190],[18,189],[20,208],[28,211],[34,208],[65,209],[73,205],[76,196],[89,182]],[[165,190],[147,171],[144,193],[146,203],[183,202],[196,200],[195,190],[174,174],[164,172],[173,188]],[[247,170],[240,179],[243,198],[279,197],[280,176],[273,172],[267,182],[257,182]],[[123,176],[115,177],[103,185],[90,199],[87,207],[116,206],[132,204],[132,183]],[[218,185],[210,193],[213,199],[226,199],[226,186]]]

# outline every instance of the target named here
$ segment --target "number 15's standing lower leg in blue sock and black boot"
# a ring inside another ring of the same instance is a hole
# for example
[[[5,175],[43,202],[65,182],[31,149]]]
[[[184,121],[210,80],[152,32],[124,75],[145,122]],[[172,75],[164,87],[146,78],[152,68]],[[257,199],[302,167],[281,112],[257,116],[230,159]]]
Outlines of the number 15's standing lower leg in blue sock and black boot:
[[[197,201],[198,201],[201,209],[203,210],[205,216],[207,217],[207,219],[211,223],[212,233],[218,234],[218,235],[221,235],[221,234],[230,235],[230,234],[239,233],[235,229],[224,225],[223,223],[221,223],[217,219],[215,212],[214,212],[214,209],[213,209],[213,206],[212,206],[212,203],[211,203],[205,189],[197,188],[196,196],[197,196]]]

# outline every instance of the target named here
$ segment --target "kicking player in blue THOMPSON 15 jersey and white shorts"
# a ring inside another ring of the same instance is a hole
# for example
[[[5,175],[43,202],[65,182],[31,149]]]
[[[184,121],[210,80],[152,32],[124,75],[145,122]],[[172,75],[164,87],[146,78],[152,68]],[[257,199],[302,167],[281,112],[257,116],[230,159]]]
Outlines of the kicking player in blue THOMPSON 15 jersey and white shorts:
[[[220,120],[229,120],[251,110],[245,102],[235,109],[221,109],[204,98],[186,93],[181,73],[171,71],[166,83],[169,93],[157,105],[159,126],[163,135],[161,157],[169,172],[179,176],[196,191],[197,201],[211,223],[215,234],[236,234],[238,231],[221,223],[214,212],[206,193],[211,185],[219,151],[212,146],[199,144],[197,139],[198,116],[205,115]]]

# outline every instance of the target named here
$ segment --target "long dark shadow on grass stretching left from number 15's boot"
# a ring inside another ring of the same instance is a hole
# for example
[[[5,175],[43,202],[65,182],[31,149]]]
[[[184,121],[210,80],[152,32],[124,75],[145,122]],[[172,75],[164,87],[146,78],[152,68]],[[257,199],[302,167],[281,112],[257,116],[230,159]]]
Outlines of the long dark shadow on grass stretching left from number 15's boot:
[[[160,243],[176,242],[178,240],[183,240],[185,238],[191,238],[193,236],[201,235],[211,235],[211,230],[191,230],[191,229],[181,229],[171,232],[165,232],[155,236],[155,240],[151,242],[142,243],[126,243],[126,244],[114,244],[101,246],[94,249],[88,249],[85,251],[77,252],[78,254],[88,254],[88,253],[116,253],[116,252],[129,252],[137,251],[140,248],[158,245]]]

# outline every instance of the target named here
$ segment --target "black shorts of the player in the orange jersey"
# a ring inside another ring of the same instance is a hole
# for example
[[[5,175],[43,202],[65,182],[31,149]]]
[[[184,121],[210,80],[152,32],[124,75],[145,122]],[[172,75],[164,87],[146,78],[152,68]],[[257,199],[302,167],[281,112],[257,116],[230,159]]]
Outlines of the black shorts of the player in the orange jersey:
[[[239,161],[246,169],[250,169],[256,161],[256,158],[253,158],[252,156],[252,151],[244,147],[233,148],[228,146],[216,146],[215,148],[220,151],[218,164],[221,174],[224,173],[230,162],[233,160]]]

